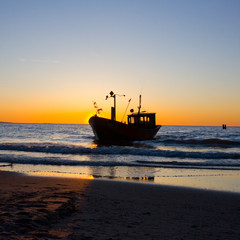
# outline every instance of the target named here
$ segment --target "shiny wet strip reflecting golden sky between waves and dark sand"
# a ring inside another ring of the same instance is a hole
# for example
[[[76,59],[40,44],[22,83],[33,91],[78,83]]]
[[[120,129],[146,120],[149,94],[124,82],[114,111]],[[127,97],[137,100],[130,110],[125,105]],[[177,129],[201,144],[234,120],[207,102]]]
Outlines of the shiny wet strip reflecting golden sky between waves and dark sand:
[[[185,169],[185,168],[159,168],[156,175],[144,168],[135,175],[131,167],[68,167],[28,165],[28,164],[5,164],[0,165],[0,171],[10,171],[27,174],[29,176],[42,177],[63,177],[76,179],[97,179],[116,180],[122,182],[133,182],[139,184],[154,184],[166,186],[178,186],[197,188],[205,190],[216,190],[225,192],[240,193],[240,172],[239,170],[218,170],[218,169]],[[128,172],[132,172],[129,176]],[[136,171],[137,172],[137,171]],[[150,174],[149,174],[150,173]]]

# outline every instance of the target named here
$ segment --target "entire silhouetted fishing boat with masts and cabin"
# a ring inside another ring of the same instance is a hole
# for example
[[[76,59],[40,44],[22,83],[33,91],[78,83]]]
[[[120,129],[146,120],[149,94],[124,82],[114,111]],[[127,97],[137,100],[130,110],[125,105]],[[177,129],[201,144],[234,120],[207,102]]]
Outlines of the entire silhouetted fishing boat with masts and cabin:
[[[127,116],[127,123],[116,121],[117,95],[111,91],[110,96],[106,96],[106,99],[109,97],[114,99],[114,106],[111,108],[111,119],[98,116],[99,111],[89,119],[96,140],[99,142],[152,140],[161,127],[156,125],[156,114],[141,112],[140,95],[138,112],[134,113],[134,110],[131,109],[131,114]]]

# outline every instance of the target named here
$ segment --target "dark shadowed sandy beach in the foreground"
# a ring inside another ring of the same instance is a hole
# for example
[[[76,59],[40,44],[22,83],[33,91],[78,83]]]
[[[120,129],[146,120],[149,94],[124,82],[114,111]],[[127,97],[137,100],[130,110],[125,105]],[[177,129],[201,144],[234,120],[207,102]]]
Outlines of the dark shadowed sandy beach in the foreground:
[[[0,171],[0,239],[240,239],[240,194]]]

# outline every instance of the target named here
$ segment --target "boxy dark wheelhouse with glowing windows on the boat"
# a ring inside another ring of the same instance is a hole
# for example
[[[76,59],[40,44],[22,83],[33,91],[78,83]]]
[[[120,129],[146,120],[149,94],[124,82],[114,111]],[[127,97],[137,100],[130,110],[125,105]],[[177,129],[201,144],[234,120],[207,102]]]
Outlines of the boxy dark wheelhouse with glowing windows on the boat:
[[[128,125],[154,128],[156,127],[155,113],[132,113],[128,115]]]

